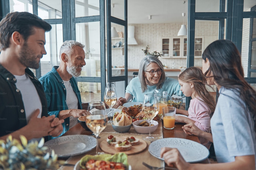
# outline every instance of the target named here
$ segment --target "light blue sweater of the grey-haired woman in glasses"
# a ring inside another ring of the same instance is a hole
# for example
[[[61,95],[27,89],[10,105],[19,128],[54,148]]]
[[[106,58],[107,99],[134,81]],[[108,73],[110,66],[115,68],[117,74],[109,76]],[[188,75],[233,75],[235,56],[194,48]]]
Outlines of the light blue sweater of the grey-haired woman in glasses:
[[[130,81],[128,86],[126,87],[125,93],[130,93],[133,96],[132,102],[143,102],[145,94],[153,94],[154,89],[156,89],[156,85],[149,86],[147,85],[147,90],[142,93],[141,90],[141,83],[139,77],[135,77]],[[163,87],[161,89],[157,89],[159,91],[167,91],[168,94],[177,95],[177,96],[184,96],[182,91],[180,91],[179,82],[175,79],[166,77]]]

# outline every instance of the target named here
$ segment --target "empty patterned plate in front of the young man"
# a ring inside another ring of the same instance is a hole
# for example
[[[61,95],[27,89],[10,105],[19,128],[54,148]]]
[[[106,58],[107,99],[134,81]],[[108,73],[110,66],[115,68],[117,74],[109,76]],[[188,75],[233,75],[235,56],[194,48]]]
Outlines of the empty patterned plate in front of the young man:
[[[88,135],[67,135],[45,142],[44,146],[54,149],[58,157],[74,156],[96,147],[96,139]]]

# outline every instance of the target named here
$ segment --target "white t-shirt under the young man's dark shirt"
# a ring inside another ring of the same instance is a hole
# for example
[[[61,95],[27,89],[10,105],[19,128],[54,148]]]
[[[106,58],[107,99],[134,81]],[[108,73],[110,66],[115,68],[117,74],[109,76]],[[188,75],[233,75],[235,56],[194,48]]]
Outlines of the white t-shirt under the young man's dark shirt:
[[[28,75],[14,75],[17,82],[15,83],[17,89],[19,89],[19,93],[22,95],[22,100],[25,108],[26,113],[26,121],[27,123],[30,120],[31,114],[36,110],[39,109],[40,113],[37,116],[38,118],[41,118],[42,115],[42,104],[40,97],[36,91],[36,87],[31,82]],[[36,133],[36,132],[35,132]],[[32,139],[32,140],[40,140],[41,138]],[[31,141],[31,140],[30,140]]]

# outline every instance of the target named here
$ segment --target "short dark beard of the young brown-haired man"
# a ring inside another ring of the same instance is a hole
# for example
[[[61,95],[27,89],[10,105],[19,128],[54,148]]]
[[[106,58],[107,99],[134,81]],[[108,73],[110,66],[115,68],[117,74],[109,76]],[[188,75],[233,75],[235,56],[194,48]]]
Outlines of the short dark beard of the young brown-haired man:
[[[27,44],[24,44],[23,48],[19,52],[19,62],[25,67],[29,67],[31,69],[39,68],[39,62],[37,61],[38,57],[42,58],[42,55],[40,54],[35,56],[34,52],[29,49]]]

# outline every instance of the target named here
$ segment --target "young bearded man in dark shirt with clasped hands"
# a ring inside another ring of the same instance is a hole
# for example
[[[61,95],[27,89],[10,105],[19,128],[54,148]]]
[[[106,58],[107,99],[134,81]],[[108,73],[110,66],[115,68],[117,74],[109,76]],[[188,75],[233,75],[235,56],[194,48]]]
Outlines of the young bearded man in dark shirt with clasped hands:
[[[50,30],[50,24],[28,12],[9,13],[0,22],[0,139],[39,140],[63,130],[63,120],[48,116],[42,85],[29,70],[39,68]]]

